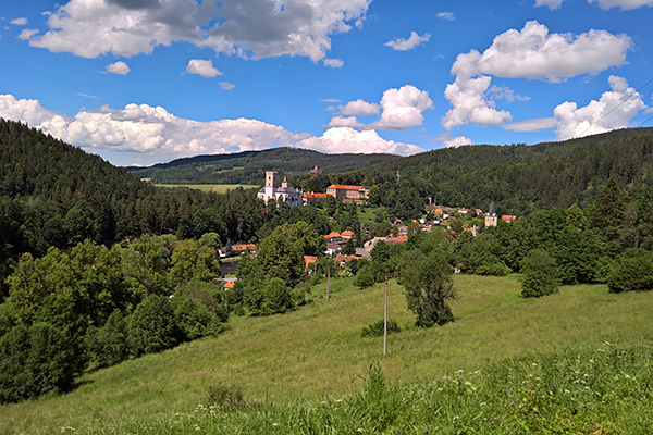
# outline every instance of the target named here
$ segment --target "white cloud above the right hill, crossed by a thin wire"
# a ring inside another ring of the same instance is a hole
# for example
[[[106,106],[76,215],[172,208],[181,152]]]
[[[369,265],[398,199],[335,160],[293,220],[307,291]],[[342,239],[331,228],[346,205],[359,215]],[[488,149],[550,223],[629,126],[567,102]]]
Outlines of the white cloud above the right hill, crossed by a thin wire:
[[[569,139],[628,127],[630,120],[646,108],[634,88],[628,87],[625,78],[609,76],[612,91],[604,92],[599,101],[592,100],[578,108],[566,101],[553,111],[558,139]]]

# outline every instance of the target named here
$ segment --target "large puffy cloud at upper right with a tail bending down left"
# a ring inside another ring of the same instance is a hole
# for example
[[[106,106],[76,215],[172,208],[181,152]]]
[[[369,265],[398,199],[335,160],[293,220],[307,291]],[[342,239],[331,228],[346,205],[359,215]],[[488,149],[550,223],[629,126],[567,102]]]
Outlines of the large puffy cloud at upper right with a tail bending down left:
[[[471,50],[456,58],[452,66],[456,79],[445,89],[453,108],[442,119],[442,125],[451,129],[467,122],[497,125],[512,121],[508,111],[497,110],[489,99],[493,76],[556,83],[581,74],[596,74],[625,64],[631,44],[627,35],[605,30],[577,36],[551,34],[535,21],[526,23],[521,30],[504,32],[483,53]],[[508,101],[517,99],[510,94],[503,96]]]

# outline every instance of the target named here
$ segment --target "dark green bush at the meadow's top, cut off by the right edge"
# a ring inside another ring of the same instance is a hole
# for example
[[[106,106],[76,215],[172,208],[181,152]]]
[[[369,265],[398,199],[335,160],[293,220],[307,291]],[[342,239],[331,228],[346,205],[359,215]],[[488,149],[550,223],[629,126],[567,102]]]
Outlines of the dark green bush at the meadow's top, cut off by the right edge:
[[[611,293],[653,290],[653,252],[629,249],[618,257],[608,274]]]

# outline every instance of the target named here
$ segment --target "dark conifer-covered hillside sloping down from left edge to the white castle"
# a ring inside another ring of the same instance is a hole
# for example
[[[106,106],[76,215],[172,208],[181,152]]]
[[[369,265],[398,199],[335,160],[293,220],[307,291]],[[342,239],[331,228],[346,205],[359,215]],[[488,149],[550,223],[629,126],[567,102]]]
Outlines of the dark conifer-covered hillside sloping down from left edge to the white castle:
[[[163,191],[100,157],[0,119],[0,295],[23,252],[143,234],[250,240],[263,224],[254,190]]]

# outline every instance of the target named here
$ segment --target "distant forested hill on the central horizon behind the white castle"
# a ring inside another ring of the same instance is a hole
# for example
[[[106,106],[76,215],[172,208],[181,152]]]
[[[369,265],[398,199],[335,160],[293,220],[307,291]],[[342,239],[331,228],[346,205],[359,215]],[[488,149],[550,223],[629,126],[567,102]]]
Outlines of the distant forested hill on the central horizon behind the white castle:
[[[264,179],[266,171],[279,171],[288,176],[308,174],[315,166],[323,174],[365,170],[374,164],[397,159],[393,154],[323,154],[297,148],[272,148],[233,154],[197,156],[173,160],[149,167],[127,167],[140,178],[171,184],[250,184]]]

